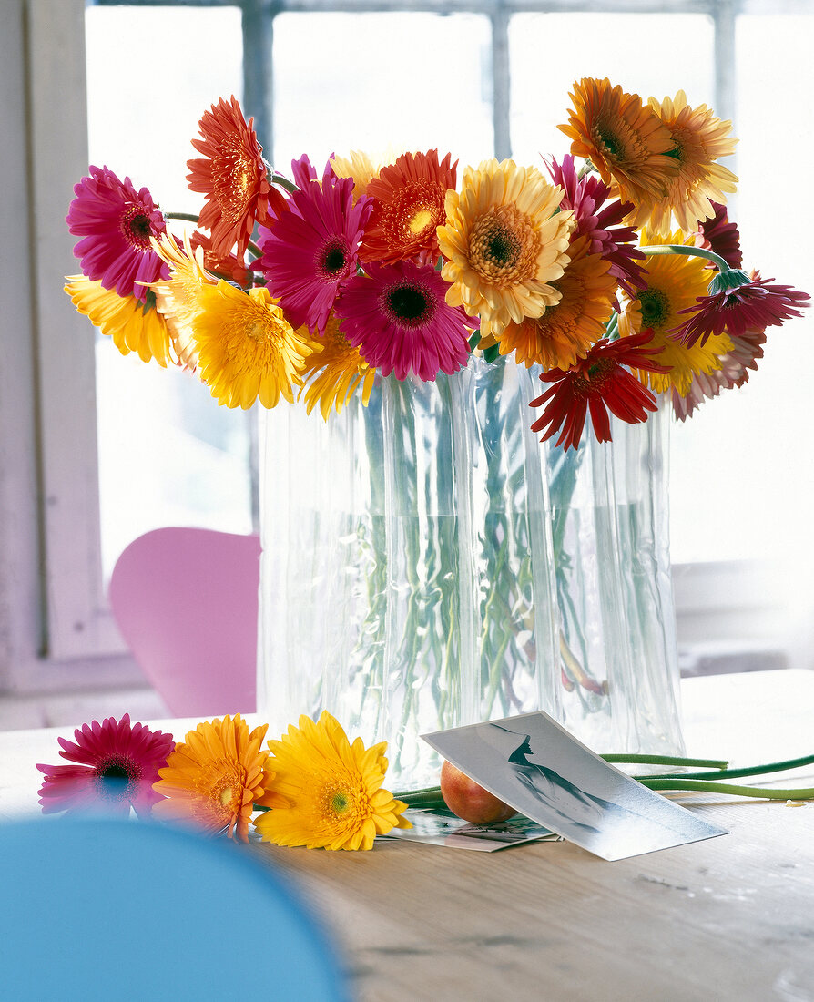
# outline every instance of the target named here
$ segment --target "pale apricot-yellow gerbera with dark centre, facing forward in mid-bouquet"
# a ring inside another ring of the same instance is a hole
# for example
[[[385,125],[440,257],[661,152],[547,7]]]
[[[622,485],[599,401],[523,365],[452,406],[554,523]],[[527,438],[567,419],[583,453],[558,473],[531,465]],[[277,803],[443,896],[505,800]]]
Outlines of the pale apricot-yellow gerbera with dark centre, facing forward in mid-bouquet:
[[[467,167],[461,192],[448,191],[439,247],[447,302],[480,316],[482,335],[499,335],[560,300],[549,283],[569,263],[574,212],[557,212],[563,189],[536,167],[487,160]]]

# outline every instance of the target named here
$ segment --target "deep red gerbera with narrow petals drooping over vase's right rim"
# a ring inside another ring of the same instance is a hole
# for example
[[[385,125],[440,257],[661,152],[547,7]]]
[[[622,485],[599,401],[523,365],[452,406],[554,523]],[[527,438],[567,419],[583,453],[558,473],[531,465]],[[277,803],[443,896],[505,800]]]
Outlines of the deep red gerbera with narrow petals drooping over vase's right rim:
[[[576,449],[589,410],[600,442],[611,441],[608,411],[631,425],[646,421],[648,412],[657,408],[656,398],[624,367],[667,371],[651,357],[661,351],[649,345],[651,337],[651,331],[643,331],[617,341],[603,338],[573,369],[541,373],[542,382],[555,385],[530,403],[530,407],[547,405],[532,431],[545,429],[541,439],[545,442],[562,428],[557,445]]]

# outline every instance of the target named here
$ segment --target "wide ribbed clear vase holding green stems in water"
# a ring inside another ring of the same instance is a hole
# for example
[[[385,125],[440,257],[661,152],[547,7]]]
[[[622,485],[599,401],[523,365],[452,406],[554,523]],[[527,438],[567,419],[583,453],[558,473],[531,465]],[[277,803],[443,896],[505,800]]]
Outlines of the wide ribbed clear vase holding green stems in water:
[[[258,711],[328,709],[388,741],[388,785],[438,782],[420,735],[546,709],[599,752],[682,749],[666,416],[564,455],[540,383],[473,358],[377,381],[323,422],[265,418]]]

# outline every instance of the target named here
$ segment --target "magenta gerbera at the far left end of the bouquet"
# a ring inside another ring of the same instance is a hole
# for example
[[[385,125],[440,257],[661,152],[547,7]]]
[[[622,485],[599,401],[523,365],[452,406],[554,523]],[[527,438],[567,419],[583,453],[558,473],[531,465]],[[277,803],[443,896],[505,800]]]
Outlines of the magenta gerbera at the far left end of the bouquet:
[[[121,181],[107,167],[89,169],[65,217],[73,235],[82,237],[74,257],[91,282],[143,301],[149,283],[169,277],[150,244],[151,236],[166,232],[164,216],[147,188],[136,191],[129,177]]]

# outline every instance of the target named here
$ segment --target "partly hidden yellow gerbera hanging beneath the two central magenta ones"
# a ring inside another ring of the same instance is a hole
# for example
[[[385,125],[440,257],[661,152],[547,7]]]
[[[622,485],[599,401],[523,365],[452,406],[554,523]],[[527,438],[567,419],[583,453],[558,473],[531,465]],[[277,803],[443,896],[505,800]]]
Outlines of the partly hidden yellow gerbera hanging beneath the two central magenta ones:
[[[373,388],[375,370],[367,365],[359,350],[353,348],[344,337],[334,315],[331,313],[328,317],[320,337],[311,338],[305,328],[300,334],[312,353],[305,359],[303,389],[299,391],[301,397],[304,390],[307,413],[310,414],[318,403],[319,413],[327,421],[331,408],[338,414],[359,384],[361,402],[366,407]]]

